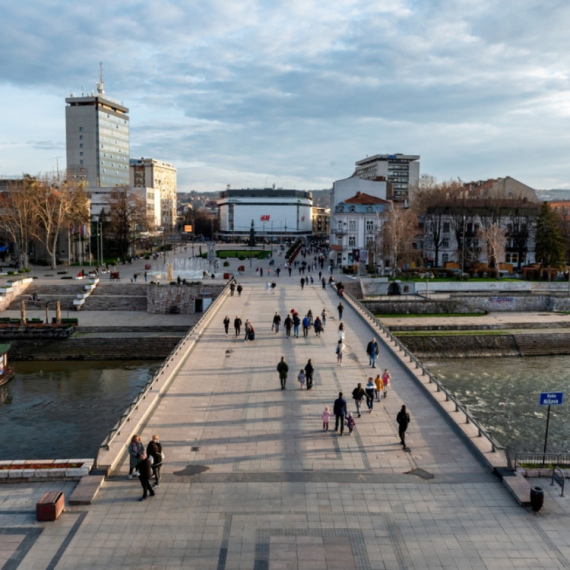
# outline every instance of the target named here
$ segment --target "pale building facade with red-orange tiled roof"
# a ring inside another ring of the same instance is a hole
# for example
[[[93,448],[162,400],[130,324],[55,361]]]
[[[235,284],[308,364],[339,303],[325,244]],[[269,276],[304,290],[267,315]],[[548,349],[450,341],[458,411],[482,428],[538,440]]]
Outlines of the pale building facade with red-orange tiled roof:
[[[362,192],[335,205],[330,243],[337,267],[379,263],[378,236],[389,206],[389,201]]]

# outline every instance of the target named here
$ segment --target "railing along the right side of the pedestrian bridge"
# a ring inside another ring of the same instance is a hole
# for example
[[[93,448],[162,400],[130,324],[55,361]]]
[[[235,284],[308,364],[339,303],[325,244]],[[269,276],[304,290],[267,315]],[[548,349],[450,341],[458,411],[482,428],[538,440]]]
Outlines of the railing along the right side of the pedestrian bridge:
[[[365,318],[369,319],[374,326],[379,328],[388,338],[388,341],[393,343],[394,346],[399,348],[407,358],[410,359],[410,362],[413,363],[416,369],[421,371],[422,376],[428,377],[428,382],[430,384],[435,384],[437,392],[443,392],[445,394],[445,401],[446,402],[453,402],[455,405],[455,411],[461,412],[465,416],[465,423],[471,423],[476,429],[477,434],[479,437],[485,438],[491,445],[491,449],[493,452],[502,452],[505,455],[505,459],[507,461],[507,465],[509,468],[512,469],[511,459],[509,452],[506,447],[497,443],[493,437],[485,430],[484,427],[473,417],[473,414],[469,412],[467,406],[461,404],[457,398],[422,364],[422,362],[414,356],[410,352],[410,350],[404,346],[371,311],[369,311],[366,307],[364,307],[357,299],[355,299],[350,293],[344,292],[344,298],[352,305],[354,309],[356,309],[361,315]]]

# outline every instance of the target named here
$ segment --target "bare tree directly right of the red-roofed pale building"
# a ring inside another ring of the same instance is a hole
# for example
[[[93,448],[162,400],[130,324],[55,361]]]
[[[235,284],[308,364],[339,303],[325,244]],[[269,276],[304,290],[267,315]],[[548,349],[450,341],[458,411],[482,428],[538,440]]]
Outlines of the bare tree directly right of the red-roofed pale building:
[[[382,224],[382,252],[390,259],[392,276],[399,263],[415,261],[419,252],[413,249],[414,238],[418,229],[418,219],[413,209],[394,206],[385,210]]]

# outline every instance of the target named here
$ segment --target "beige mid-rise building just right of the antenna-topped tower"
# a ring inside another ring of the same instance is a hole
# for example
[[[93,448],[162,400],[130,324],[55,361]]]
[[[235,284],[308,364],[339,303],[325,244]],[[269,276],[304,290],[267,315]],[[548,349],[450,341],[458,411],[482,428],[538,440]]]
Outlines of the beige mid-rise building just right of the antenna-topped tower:
[[[131,159],[130,185],[152,189],[155,205],[159,208],[157,225],[172,231],[177,219],[176,168],[154,158]]]

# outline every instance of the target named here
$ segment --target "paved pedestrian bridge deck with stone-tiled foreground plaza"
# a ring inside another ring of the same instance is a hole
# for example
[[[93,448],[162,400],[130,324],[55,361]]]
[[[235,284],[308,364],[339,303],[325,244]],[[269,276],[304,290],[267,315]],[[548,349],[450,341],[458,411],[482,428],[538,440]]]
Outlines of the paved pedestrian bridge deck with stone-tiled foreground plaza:
[[[301,290],[298,277],[281,277],[275,294],[261,279],[243,284],[142,429],[145,443],[160,436],[166,454],[156,496],[138,502],[125,458],[92,505],[40,525],[23,505],[47,484],[3,486],[0,551],[12,549],[20,561],[6,557],[5,568],[570,568],[565,499],[549,493],[539,515],[518,506],[382,343],[377,370],[369,368],[373,331],[347,303],[347,348],[336,363],[332,289]],[[320,338],[271,331],[275,311],[285,318],[292,308],[317,315],[323,307],[329,318]],[[236,339],[231,327],[226,337],[226,315],[249,319],[255,341],[243,342],[243,332]],[[281,356],[289,364],[285,391]],[[315,381],[305,391],[295,379],[309,358]],[[323,433],[324,406],[342,390],[354,412],[356,383],[384,368],[389,397],[357,418],[352,436]],[[412,417],[410,452],[398,443],[402,403]]]

